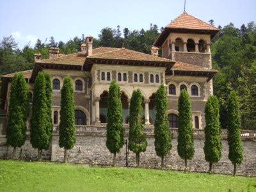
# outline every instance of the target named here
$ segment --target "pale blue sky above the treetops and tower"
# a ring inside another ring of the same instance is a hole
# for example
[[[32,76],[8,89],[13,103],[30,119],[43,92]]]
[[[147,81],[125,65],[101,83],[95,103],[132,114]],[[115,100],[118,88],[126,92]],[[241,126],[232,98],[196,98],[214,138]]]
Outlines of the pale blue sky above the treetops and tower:
[[[0,0],[0,40],[12,35],[22,49],[29,42],[33,47],[37,38],[98,38],[105,27],[140,30],[152,23],[161,28],[183,11],[184,0]],[[215,26],[256,22],[255,11],[255,0],[186,0],[186,12],[205,22],[213,19]]]

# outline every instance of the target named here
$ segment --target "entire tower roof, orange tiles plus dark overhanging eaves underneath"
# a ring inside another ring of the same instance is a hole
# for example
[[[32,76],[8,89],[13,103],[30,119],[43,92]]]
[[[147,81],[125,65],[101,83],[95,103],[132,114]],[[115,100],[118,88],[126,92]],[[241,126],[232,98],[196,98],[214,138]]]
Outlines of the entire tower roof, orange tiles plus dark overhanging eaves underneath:
[[[183,12],[164,28],[154,43],[154,46],[161,47],[170,33],[209,34],[213,38],[218,31],[218,28],[211,26],[207,22]]]

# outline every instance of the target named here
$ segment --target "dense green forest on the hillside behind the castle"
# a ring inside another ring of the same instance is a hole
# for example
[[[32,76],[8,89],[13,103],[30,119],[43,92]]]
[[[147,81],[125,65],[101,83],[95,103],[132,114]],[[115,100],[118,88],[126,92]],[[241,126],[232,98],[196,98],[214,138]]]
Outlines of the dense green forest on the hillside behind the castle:
[[[213,20],[210,20],[213,24]],[[239,96],[242,129],[256,129],[256,24],[249,22],[236,28],[230,22],[227,26],[218,26],[220,32],[212,39],[212,67],[219,72],[213,79],[214,95],[220,100],[221,127],[227,128],[227,97],[235,90]],[[122,47],[150,53],[150,47],[163,30],[156,24],[149,29],[130,30],[128,28],[103,28],[97,38],[93,38],[93,47]],[[38,39],[33,47],[29,43],[22,50],[18,48],[12,36],[6,36],[0,42],[0,75],[10,74],[33,68],[34,54],[49,57],[49,47],[59,47],[60,53],[71,54],[80,51],[85,36],[75,36],[67,42],[56,42],[51,36],[46,40]],[[161,52],[161,51],[160,51]],[[161,54],[160,54],[161,55]]]

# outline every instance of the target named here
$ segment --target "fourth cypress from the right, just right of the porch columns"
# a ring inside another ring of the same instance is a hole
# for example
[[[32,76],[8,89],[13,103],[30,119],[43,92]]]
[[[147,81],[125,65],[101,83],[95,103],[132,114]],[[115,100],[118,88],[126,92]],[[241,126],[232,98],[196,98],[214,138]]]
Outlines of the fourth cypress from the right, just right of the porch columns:
[[[154,123],[155,150],[161,157],[161,166],[164,166],[164,156],[170,153],[172,148],[167,115],[168,100],[164,85],[161,84],[156,92],[156,118]]]

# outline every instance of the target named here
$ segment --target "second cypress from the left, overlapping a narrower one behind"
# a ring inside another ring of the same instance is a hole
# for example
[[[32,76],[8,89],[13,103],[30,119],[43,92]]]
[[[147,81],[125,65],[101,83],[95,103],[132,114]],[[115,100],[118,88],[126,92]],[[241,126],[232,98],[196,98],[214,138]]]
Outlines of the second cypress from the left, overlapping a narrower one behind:
[[[38,149],[38,161],[42,159],[42,150],[49,147],[50,137],[48,134],[47,99],[45,93],[45,76],[39,72],[35,79],[30,143]]]

